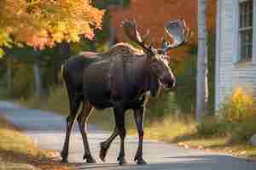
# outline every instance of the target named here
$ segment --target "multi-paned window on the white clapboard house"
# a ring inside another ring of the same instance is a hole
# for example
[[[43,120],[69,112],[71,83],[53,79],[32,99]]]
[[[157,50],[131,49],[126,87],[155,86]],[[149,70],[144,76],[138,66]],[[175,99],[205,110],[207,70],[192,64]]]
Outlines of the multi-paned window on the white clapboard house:
[[[240,60],[253,59],[253,0],[239,3],[239,46]]]

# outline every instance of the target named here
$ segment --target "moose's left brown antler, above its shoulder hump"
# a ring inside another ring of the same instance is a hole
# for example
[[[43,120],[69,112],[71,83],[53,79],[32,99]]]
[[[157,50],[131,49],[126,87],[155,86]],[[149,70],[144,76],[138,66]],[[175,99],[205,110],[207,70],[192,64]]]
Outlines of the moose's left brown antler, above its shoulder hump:
[[[125,35],[129,37],[131,41],[137,42],[137,44],[143,49],[150,50],[145,44],[148,39],[149,30],[142,38],[140,33],[137,31],[137,24],[135,20],[125,20],[122,22],[122,26],[125,31]]]

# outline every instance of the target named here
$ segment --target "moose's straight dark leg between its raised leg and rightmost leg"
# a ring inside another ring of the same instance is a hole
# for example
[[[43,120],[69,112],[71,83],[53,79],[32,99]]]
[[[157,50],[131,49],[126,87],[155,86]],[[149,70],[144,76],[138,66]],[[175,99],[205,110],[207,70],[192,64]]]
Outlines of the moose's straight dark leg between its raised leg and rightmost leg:
[[[121,104],[114,105],[113,106],[113,113],[114,113],[114,119],[116,127],[118,128],[119,137],[120,137],[120,151],[119,151],[119,165],[126,164],[125,161],[125,136],[126,136],[126,130],[125,130],[125,111],[124,107]]]

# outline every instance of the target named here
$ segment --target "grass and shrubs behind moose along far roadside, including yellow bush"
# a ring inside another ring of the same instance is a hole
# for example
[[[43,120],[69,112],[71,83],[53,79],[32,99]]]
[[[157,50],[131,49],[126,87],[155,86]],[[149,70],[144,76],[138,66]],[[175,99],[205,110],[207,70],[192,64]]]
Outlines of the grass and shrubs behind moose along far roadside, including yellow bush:
[[[256,107],[253,97],[241,88],[236,88],[234,94],[225,100],[217,116],[207,116],[201,124],[195,122],[194,114],[184,114],[163,101],[172,102],[172,94],[162,94],[158,99],[150,100],[144,123],[145,138],[198,150],[256,156],[256,147],[250,144],[250,138],[256,133]],[[55,111],[64,116],[68,114],[67,93],[63,87],[51,88],[44,104],[38,103],[37,99],[20,102],[32,108]],[[94,111],[89,122],[112,130],[112,111]],[[126,127],[131,135],[137,135],[131,113],[126,114]]]

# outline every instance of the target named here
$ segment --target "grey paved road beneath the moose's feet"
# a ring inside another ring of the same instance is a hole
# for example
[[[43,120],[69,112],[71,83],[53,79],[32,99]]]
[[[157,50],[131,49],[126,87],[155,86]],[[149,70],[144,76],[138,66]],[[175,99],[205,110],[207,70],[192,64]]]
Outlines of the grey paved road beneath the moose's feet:
[[[8,102],[0,102],[0,113],[25,130],[44,149],[61,151],[65,133],[65,118],[54,113],[21,108]],[[151,140],[144,142],[146,166],[134,164],[133,156],[137,150],[137,139],[128,137],[125,140],[126,159],[129,164],[119,167],[116,158],[119,153],[119,138],[113,141],[108,151],[107,162],[98,158],[99,143],[108,138],[109,133],[89,126],[89,143],[97,164],[86,164],[82,161],[83,146],[78,128],[71,136],[69,161],[75,162],[77,169],[147,169],[147,170],[256,170],[256,162],[238,159],[224,154],[206,153],[201,150],[187,150],[176,144],[163,144]]]

